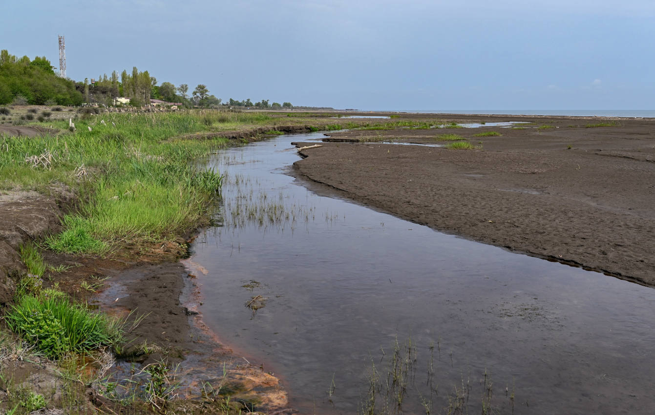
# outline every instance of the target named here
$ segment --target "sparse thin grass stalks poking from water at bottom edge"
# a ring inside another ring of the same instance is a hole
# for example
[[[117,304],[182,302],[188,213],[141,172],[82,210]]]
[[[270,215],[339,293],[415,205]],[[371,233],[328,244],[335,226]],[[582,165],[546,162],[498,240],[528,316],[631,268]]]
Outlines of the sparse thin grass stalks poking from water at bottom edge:
[[[382,347],[380,350],[383,353],[380,359],[380,363],[382,363],[387,356]],[[469,405],[477,406],[474,401],[470,401],[475,385],[470,379],[464,380],[462,375],[461,382],[455,384],[450,393],[440,397],[436,383],[438,373],[435,367],[435,357],[440,360],[440,342],[437,342],[438,356],[435,356],[434,342],[430,343],[428,350],[430,355],[424,372],[425,377],[423,379],[421,376],[419,382],[417,382],[417,372],[420,374],[423,373],[423,370],[417,371],[419,359],[416,345],[413,344],[411,338],[408,338],[402,345],[396,339],[393,353],[388,357],[386,367],[379,368],[375,362],[371,361],[371,368],[367,376],[368,391],[362,397],[357,413],[360,415],[415,413],[419,405],[426,415],[441,412],[449,415],[473,413],[469,411]],[[452,362],[452,352],[450,356]],[[479,406],[483,415],[500,413],[498,409],[500,403],[494,399],[493,386],[491,374],[485,369],[479,382],[481,389]],[[330,397],[332,397],[334,389],[330,387],[329,391]],[[509,386],[505,388],[505,397],[507,399],[505,404],[510,406],[514,413],[514,386],[511,391]]]

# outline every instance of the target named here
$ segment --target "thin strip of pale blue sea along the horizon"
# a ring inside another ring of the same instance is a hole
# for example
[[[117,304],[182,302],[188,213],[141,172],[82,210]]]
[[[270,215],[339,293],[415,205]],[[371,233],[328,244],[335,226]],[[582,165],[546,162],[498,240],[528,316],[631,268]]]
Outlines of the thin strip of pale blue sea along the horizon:
[[[569,115],[571,117],[655,118],[655,109],[405,109],[400,112],[420,114]]]

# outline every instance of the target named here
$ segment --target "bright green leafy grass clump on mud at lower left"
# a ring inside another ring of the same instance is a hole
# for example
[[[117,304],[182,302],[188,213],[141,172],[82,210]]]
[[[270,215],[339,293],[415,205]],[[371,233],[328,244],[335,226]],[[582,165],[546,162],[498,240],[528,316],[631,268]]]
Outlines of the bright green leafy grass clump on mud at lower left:
[[[121,325],[65,298],[25,295],[5,316],[7,325],[50,358],[87,353],[122,341]]]

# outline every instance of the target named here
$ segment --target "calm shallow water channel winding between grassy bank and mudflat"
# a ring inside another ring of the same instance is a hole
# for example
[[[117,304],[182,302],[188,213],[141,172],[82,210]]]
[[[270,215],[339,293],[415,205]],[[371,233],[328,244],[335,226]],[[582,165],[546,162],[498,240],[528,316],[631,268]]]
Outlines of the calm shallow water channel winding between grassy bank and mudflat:
[[[357,413],[373,366],[384,383],[394,344],[411,341],[404,413],[430,402],[441,413],[457,396],[479,412],[485,372],[500,413],[655,412],[654,289],[442,234],[295,179],[291,141],[321,137],[212,156],[207,167],[226,175],[221,223],[192,247],[208,271],[198,276],[205,323],[280,377],[292,407]]]

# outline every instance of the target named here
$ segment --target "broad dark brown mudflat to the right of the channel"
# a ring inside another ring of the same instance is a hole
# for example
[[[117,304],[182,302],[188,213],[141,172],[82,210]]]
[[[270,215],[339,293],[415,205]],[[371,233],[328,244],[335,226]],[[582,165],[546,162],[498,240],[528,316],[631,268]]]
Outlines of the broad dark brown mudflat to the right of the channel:
[[[334,132],[295,171],[441,232],[655,285],[654,118],[432,117],[485,124]],[[525,124],[489,125],[506,121]],[[443,134],[476,148],[385,143],[457,141]]]

